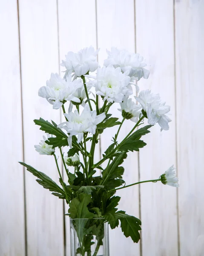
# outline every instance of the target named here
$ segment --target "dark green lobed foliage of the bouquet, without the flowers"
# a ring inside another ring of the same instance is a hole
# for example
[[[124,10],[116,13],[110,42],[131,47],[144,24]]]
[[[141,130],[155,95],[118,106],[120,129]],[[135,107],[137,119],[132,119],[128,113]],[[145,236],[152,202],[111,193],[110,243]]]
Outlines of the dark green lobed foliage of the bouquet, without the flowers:
[[[98,133],[102,133],[105,128],[121,124],[121,122],[118,122],[118,118],[110,116],[111,115],[108,114],[106,119],[98,125]],[[57,128],[55,122],[52,121],[52,123],[50,123],[42,118],[34,120],[34,122],[36,125],[40,125],[40,130],[55,136],[48,138],[46,141],[49,145],[52,145],[53,148],[68,145],[67,135],[61,131],[61,129]],[[67,215],[73,219],[87,218],[87,221],[83,223],[75,223],[78,237],[83,244],[83,246],[78,248],[78,253],[83,255],[83,253],[89,252],[93,236],[97,237],[99,244],[102,243],[103,235],[101,233],[101,223],[97,224],[88,221],[88,219],[93,218],[102,217],[109,223],[112,229],[118,227],[120,221],[121,230],[124,232],[124,235],[126,237],[130,236],[134,242],[139,241],[141,221],[134,216],[126,214],[124,211],[118,211],[116,207],[118,206],[120,197],[115,196],[115,189],[125,183],[122,179],[124,167],[121,166],[121,164],[124,162],[124,159],[126,159],[127,152],[139,151],[139,148],[143,148],[146,145],[146,143],[141,140],[141,137],[149,133],[148,129],[151,126],[152,125],[147,125],[138,129],[119,144],[116,140],[117,136],[115,136],[113,143],[103,154],[104,160],[109,160],[107,167],[102,169],[100,166],[97,166],[97,168],[102,170],[102,175],[93,177],[96,172],[94,169],[92,169],[92,172],[89,174],[89,177],[92,178],[91,185],[87,183],[87,177],[85,177],[84,172],[80,172],[80,166],[78,172],[75,174],[68,173],[69,184],[64,183],[61,179],[59,180],[60,187],[44,173],[20,162],[29,172],[37,177],[37,182],[41,186],[49,189],[52,194],[58,198],[66,198],[67,204],[69,204]],[[87,140],[92,140],[92,138],[89,137]],[[75,136],[72,137],[72,141],[72,148],[69,149],[68,156],[73,156],[76,152],[78,153],[79,150],[82,150]],[[83,250],[83,252],[81,250]]]

